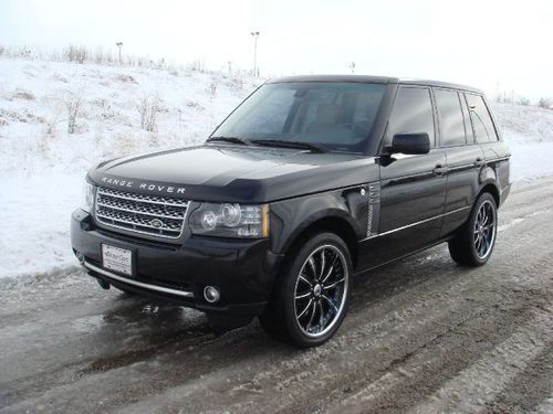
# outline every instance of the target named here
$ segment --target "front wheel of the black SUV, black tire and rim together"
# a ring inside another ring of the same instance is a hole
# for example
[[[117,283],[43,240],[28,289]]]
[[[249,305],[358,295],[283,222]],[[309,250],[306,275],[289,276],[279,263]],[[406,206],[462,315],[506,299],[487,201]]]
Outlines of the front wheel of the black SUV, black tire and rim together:
[[[317,347],[334,336],[347,312],[352,258],[333,233],[312,234],[294,247],[260,321],[273,338],[300,348]]]

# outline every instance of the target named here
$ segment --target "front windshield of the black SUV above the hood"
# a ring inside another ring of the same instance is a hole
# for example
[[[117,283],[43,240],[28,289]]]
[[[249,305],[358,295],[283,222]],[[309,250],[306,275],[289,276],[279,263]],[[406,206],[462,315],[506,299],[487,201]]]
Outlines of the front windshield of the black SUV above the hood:
[[[211,138],[305,142],[328,150],[362,152],[384,92],[384,85],[365,83],[267,84],[240,105]]]

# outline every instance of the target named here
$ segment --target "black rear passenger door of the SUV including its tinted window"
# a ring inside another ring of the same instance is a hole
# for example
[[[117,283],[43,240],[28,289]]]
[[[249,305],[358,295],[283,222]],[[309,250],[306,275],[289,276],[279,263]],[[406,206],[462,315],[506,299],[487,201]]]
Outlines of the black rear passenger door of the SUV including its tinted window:
[[[474,141],[465,96],[455,89],[435,88],[439,145],[448,163],[442,235],[465,223],[479,190],[482,148]]]

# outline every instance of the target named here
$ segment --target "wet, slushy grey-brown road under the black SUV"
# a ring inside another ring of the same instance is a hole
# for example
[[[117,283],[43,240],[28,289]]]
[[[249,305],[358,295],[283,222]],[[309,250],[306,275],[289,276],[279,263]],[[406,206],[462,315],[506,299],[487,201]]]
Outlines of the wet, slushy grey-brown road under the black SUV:
[[[519,185],[487,266],[441,245],[358,277],[307,351],[81,270],[0,284],[0,413],[553,412],[552,253],[553,179]]]

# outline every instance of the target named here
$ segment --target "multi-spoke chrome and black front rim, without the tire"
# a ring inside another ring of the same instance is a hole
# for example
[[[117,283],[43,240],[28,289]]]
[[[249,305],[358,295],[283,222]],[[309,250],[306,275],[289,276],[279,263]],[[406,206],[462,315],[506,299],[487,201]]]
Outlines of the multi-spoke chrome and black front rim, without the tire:
[[[347,265],[333,245],[317,247],[298,275],[294,310],[298,326],[310,338],[328,332],[344,310],[347,295]]]

